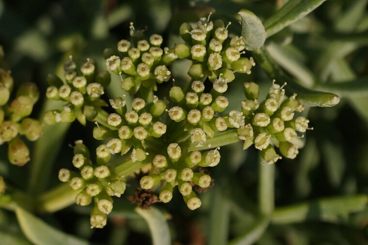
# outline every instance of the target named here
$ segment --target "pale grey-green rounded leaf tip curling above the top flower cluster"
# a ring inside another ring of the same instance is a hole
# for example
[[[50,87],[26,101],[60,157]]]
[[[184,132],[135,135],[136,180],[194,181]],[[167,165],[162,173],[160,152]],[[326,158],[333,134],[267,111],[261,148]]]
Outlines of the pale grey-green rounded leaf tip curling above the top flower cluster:
[[[266,31],[261,20],[249,10],[242,9],[238,13],[242,17],[242,36],[246,49],[253,50],[263,46],[266,40]]]

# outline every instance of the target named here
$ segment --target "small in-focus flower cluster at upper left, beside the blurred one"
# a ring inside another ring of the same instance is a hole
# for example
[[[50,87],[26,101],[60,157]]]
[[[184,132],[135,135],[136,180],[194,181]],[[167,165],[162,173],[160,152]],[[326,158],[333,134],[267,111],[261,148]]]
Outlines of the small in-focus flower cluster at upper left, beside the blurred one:
[[[104,88],[110,84],[110,74],[102,71],[95,74],[95,63],[87,59],[77,71],[72,57],[65,62],[65,80],[56,75],[49,75],[46,97],[52,100],[67,102],[62,110],[50,110],[44,114],[44,122],[52,125],[57,122],[74,122],[76,119],[83,125],[86,120],[93,121],[100,114],[101,107],[107,106],[100,99]]]

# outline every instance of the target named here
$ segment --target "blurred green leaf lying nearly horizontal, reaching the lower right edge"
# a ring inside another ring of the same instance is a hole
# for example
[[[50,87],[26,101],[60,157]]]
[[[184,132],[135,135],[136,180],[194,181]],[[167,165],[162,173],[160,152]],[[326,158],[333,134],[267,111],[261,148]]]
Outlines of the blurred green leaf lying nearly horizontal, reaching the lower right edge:
[[[272,222],[300,223],[308,220],[338,222],[347,214],[362,211],[368,203],[367,195],[323,198],[276,208]]]

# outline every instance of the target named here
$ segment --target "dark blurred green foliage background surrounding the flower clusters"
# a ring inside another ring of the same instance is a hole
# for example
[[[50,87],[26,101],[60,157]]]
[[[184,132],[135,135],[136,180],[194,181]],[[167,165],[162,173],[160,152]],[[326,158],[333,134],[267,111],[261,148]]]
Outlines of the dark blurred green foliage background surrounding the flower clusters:
[[[232,21],[230,32],[240,35],[236,14],[240,9],[249,9],[264,20],[283,3],[284,0],[0,0],[0,45],[15,84],[33,81],[45,94],[47,74],[60,74],[69,55],[79,63],[92,57],[104,69],[103,50],[129,38],[129,22],[134,22],[138,30],[146,30],[147,36],[161,34],[164,45],[172,47],[180,40],[179,25],[184,21],[197,21],[213,12],[213,19]],[[368,83],[367,3],[327,0],[267,39],[266,47],[276,62],[306,87],[323,90],[357,78]],[[251,52],[246,55],[251,56]],[[187,66],[185,61],[172,65],[170,70],[176,81],[187,81]],[[263,91],[271,85],[259,65],[250,76],[237,76],[227,92],[229,110],[240,108],[245,81],[259,83]],[[170,85],[166,86],[159,89],[160,94],[167,92]],[[110,86],[105,98],[121,95],[119,87]],[[367,89],[331,92],[340,95],[340,103],[332,108],[307,110],[314,130],[307,132],[305,147],[296,159],[276,163],[276,210],[270,226],[264,232],[258,230],[261,233],[256,244],[368,244]],[[41,96],[33,117],[41,115],[44,103]],[[32,167],[34,161],[22,168],[11,166],[6,148],[0,147],[0,175],[6,182],[22,190],[31,189],[30,193],[42,193],[60,184],[60,168],[71,166],[73,152],[68,144],[83,139],[91,149],[98,146],[92,138],[92,123],[83,127],[74,122],[69,129],[63,127],[59,130],[67,130],[66,133],[56,136],[57,145],[46,153],[52,163],[38,169]],[[255,149],[241,149],[241,142],[221,149],[221,162],[211,169],[215,186],[200,194],[203,204],[198,210],[188,210],[175,193],[170,203],[154,204],[168,219],[173,244],[226,244],[259,227],[258,153]],[[32,185],[34,172],[41,172],[43,177]],[[40,217],[92,244],[150,244],[152,236],[147,224],[134,212],[135,204],[124,196],[114,202],[114,211],[102,230],[91,230],[90,210],[77,205]],[[5,244],[15,240],[17,244],[29,244],[15,214],[4,209],[0,213],[0,237],[10,239],[3,240],[10,241]]]

